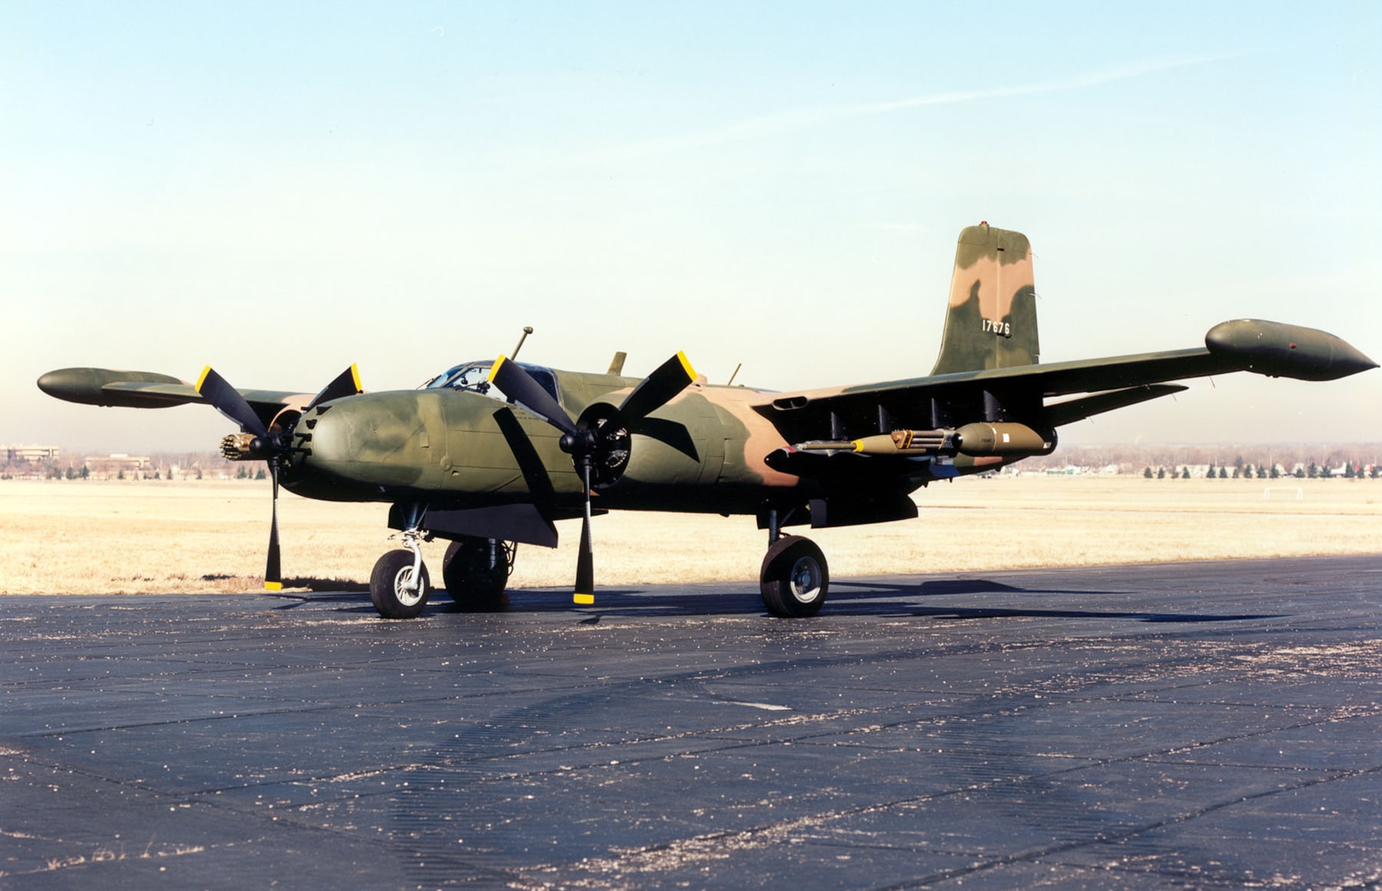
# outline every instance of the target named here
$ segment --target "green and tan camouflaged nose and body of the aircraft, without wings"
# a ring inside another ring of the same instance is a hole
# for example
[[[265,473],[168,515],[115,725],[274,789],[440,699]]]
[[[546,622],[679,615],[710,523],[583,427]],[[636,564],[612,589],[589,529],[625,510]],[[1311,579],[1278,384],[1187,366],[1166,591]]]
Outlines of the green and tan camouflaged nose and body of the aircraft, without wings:
[[[556,372],[574,417],[608,413],[637,379]],[[788,442],[753,410],[764,394],[692,384],[632,432],[627,463],[597,488],[616,510],[753,514],[799,477],[764,457]],[[515,431],[517,428],[517,431]],[[466,390],[376,392],[318,406],[294,430],[296,457],[283,483],[330,500],[427,501],[433,508],[525,503],[550,497],[560,514],[579,511],[582,486],[560,431],[522,406]],[[536,463],[525,470],[522,449]],[[533,492],[539,467],[550,496]],[[791,497],[804,497],[802,493]]]

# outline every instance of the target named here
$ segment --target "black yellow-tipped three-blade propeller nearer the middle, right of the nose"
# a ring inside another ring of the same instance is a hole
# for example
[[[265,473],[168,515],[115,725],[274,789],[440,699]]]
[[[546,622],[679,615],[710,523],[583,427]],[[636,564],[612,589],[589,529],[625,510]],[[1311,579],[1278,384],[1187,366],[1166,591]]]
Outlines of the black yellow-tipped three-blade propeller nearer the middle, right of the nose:
[[[612,443],[629,424],[656,412],[695,380],[695,370],[684,352],[679,352],[638,381],[615,413],[598,427],[579,427],[557,399],[517,362],[499,356],[489,369],[489,381],[506,396],[561,431],[561,450],[571,456],[585,493],[580,518],[580,554],[576,558],[576,584],[572,600],[580,605],[596,602],[594,548],[590,543],[590,471],[596,454]]]

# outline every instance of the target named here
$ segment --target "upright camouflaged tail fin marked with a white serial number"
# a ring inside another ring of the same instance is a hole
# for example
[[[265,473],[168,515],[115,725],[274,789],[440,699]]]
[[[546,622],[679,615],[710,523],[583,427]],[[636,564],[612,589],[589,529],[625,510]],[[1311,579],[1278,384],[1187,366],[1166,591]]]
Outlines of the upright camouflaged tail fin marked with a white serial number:
[[[1027,236],[987,222],[960,231],[941,354],[931,374],[1036,365],[1039,354]]]

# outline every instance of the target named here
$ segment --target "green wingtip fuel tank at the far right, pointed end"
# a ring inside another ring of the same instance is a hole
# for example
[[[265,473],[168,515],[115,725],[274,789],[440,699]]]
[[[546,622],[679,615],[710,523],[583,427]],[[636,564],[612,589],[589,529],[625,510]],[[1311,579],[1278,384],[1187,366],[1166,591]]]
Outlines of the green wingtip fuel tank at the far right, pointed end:
[[[1378,366],[1328,332],[1263,319],[1220,322],[1205,334],[1205,347],[1269,377],[1338,380]]]

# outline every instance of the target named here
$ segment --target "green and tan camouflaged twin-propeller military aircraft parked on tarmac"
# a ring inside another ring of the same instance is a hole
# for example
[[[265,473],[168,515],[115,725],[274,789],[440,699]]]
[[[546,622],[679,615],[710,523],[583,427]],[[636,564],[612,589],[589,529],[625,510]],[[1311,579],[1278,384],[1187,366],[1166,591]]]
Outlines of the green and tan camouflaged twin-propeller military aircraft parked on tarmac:
[[[575,602],[593,604],[590,519],[611,510],[755,517],[768,540],[763,604],[800,617],[821,609],[829,572],[821,550],[786,528],[916,517],[916,489],[1049,454],[1064,424],[1186,390],[1168,381],[1229,372],[1323,381],[1376,367],[1332,334],[1256,319],[1216,325],[1190,349],[1045,365],[1039,352],[1031,246],[984,222],[959,235],[940,358],[926,377],[774,392],[712,385],[683,354],[641,380],[625,377],[616,354],[603,374],[500,355],[417,390],[369,394],[355,366],[315,395],[236,390],[210,367],[196,384],[61,369],[39,387],[102,406],[202,402],[238,424],[221,453],[267,461],[274,481],[269,588],[282,582],[282,485],[391,504],[404,547],[370,575],[375,606],[390,619],[427,604],[420,542],[448,539],[446,593],[462,608],[495,611],[507,605],[515,544],[556,547],[556,521],[575,518]]]

